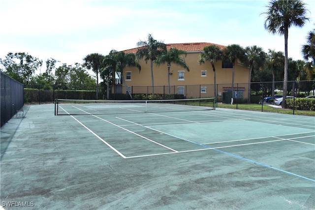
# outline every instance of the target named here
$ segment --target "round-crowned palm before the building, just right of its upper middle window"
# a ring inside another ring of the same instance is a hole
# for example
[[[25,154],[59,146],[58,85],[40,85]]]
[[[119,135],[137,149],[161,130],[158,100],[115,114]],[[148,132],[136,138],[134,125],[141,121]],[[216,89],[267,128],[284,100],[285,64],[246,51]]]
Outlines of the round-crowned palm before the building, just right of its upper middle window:
[[[217,79],[215,62],[222,59],[222,50],[217,45],[209,45],[203,48],[203,52],[199,56],[199,64],[209,61],[214,74],[214,97],[217,97]]]

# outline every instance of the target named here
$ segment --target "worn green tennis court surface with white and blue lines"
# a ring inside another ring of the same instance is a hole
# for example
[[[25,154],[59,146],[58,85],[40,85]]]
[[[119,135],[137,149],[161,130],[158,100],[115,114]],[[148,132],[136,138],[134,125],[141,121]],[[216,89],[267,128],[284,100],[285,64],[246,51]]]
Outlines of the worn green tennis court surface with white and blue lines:
[[[1,127],[3,209],[315,209],[314,117],[84,108],[24,106]]]

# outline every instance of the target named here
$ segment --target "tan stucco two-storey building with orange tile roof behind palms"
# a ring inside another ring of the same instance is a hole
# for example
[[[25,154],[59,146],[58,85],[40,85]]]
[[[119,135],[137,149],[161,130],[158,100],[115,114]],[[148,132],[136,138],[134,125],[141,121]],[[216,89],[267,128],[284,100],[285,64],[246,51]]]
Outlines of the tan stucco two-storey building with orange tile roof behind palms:
[[[171,63],[170,67],[170,93],[171,94],[184,94],[186,98],[204,98],[214,97],[214,72],[210,62],[198,62],[200,53],[203,48],[213,43],[179,43],[179,44],[166,44],[167,49],[175,47],[187,52],[184,59],[189,66],[189,71],[184,68]],[[217,45],[217,44],[216,44]],[[225,46],[218,45],[221,49]],[[138,48],[126,50],[124,52],[136,53]],[[144,60],[139,60],[141,71],[137,67],[126,67],[124,69],[124,78],[127,88],[133,93],[152,93],[152,80],[150,61],[146,63]],[[222,63],[219,60],[215,63],[216,67],[216,81],[218,98],[222,96],[222,92],[231,90],[232,83],[232,65],[231,63]],[[156,65],[153,63],[154,74],[154,93],[168,94],[168,79],[167,79],[167,64]],[[249,68],[244,67],[240,63],[235,63],[235,76],[234,76],[234,97],[247,98],[247,83],[249,75]],[[116,86],[116,88],[119,86]],[[238,88],[238,89],[237,89]],[[116,89],[118,92],[126,93],[124,84],[121,88]],[[117,91],[116,91],[117,92]]]

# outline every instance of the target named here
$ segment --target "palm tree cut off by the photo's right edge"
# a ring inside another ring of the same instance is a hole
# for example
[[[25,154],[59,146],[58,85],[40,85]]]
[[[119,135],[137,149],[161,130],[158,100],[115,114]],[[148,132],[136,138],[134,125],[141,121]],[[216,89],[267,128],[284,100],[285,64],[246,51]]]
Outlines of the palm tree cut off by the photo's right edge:
[[[315,76],[315,29],[309,31],[307,36],[307,44],[302,46],[302,55],[306,63],[308,79],[313,80]]]

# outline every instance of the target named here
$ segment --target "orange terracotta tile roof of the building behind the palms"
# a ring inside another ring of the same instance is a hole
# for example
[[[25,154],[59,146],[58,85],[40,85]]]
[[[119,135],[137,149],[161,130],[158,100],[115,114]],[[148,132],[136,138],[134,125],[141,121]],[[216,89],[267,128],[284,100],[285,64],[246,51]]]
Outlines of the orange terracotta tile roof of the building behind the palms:
[[[166,45],[167,49],[169,49],[171,47],[175,47],[175,48],[177,48],[179,50],[185,50],[186,52],[203,51],[203,48],[205,46],[209,46],[209,45],[217,45],[221,49],[226,47],[224,45],[214,44],[214,43],[209,43],[209,42],[175,43],[175,44],[165,44],[165,45]],[[124,50],[124,52],[125,53],[136,53],[137,49],[139,49],[139,47],[132,48],[132,49],[129,49],[129,50]]]

